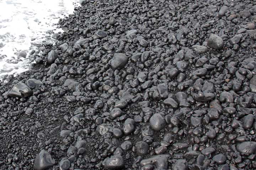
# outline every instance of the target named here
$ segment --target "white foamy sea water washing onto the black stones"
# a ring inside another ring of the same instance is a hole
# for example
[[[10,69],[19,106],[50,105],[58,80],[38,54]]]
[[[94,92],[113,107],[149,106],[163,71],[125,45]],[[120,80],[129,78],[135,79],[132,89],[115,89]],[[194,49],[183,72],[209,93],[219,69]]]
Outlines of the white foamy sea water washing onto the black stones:
[[[0,79],[28,69],[33,44],[45,40],[56,29],[59,18],[74,12],[79,0],[0,0]],[[62,32],[61,29],[54,33]],[[26,50],[27,57],[17,59]]]

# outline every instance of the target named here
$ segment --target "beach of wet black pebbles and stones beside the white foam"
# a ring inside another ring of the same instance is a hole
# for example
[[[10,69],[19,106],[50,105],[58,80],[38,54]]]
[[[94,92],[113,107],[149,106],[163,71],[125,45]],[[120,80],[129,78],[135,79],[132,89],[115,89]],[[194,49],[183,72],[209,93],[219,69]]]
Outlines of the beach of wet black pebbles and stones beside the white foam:
[[[256,2],[83,3],[0,82],[0,170],[256,168]]]

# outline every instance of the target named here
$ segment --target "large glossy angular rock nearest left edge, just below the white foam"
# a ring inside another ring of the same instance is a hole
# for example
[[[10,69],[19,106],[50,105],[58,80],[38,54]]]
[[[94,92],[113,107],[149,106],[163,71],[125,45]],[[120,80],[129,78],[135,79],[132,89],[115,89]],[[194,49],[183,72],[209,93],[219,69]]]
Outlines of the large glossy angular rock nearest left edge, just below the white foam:
[[[33,95],[33,91],[24,83],[15,84],[8,94],[10,97],[28,97]]]

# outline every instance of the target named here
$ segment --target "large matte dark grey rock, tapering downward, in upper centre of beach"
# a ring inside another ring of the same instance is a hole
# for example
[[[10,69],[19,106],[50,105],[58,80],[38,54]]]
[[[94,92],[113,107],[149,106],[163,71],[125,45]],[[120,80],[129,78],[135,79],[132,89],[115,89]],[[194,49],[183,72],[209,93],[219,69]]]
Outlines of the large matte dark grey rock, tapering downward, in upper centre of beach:
[[[123,53],[114,53],[111,60],[111,67],[113,69],[122,69],[128,63],[128,57]]]

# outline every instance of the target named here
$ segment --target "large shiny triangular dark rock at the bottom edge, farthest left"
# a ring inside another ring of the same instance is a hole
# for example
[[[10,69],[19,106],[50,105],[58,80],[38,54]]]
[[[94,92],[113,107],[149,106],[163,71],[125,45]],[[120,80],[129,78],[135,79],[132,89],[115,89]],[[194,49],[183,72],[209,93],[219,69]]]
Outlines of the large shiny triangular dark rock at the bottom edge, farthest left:
[[[52,156],[44,149],[34,159],[34,170],[47,170],[56,164]]]

